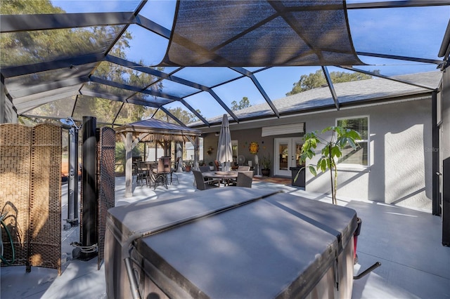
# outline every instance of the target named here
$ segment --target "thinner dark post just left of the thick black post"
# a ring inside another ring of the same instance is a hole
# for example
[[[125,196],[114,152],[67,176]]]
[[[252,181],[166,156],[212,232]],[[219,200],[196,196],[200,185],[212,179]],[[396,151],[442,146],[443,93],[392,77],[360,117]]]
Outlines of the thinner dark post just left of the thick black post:
[[[69,130],[68,223],[78,225],[78,128]]]

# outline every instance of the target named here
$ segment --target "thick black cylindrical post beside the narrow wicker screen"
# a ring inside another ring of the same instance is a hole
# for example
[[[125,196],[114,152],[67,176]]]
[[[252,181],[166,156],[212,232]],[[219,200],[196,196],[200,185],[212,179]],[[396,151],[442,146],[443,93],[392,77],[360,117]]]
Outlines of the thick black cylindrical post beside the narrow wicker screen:
[[[83,147],[82,147],[82,246],[97,244],[97,148],[96,148],[96,118],[83,117]],[[80,259],[90,259],[96,252],[83,253]]]

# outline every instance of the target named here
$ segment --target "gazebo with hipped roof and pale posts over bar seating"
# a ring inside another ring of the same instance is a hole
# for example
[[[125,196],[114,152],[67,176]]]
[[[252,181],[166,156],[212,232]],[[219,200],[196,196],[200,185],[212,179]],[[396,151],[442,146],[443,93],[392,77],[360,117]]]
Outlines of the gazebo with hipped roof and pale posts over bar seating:
[[[125,164],[125,197],[133,196],[132,188],[132,153],[139,142],[154,142],[160,143],[164,148],[165,156],[170,156],[169,145],[170,142],[187,142],[190,141],[194,146],[194,166],[198,167],[198,147],[199,137],[201,131],[187,126],[180,126],[177,124],[167,123],[158,119],[146,119],[137,121],[132,124],[119,126],[115,128],[117,139],[124,142],[126,150],[126,164]],[[183,152],[181,147],[176,148],[176,158],[182,160]]]

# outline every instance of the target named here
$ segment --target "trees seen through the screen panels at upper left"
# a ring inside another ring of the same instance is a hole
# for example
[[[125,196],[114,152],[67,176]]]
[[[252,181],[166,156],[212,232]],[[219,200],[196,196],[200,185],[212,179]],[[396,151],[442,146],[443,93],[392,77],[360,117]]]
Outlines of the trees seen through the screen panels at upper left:
[[[49,0],[1,1],[0,10],[1,14],[8,15],[23,13],[65,13],[61,8],[53,6]],[[117,34],[122,31],[122,27],[122,25],[95,26],[89,28],[82,27],[1,34],[0,60],[4,64],[3,66],[18,66],[96,53],[102,48],[107,48],[110,41],[115,39]],[[129,41],[132,38],[130,32],[124,32],[108,54],[126,59],[126,49],[129,48]],[[141,61],[139,63],[141,65],[143,64]],[[163,67],[158,67],[160,71],[163,69]],[[162,88],[160,81],[150,86],[150,84],[156,81],[152,75],[110,62],[99,63],[93,75],[120,84],[152,88],[157,91],[161,91]],[[32,80],[42,82],[58,81],[57,76],[58,72],[55,71],[39,72],[32,74]],[[70,115],[77,119],[82,117],[81,114],[83,113],[95,113],[94,116],[98,116],[99,121],[108,123],[113,122],[116,117],[111,112],[120,111],[116,122],[127,124],[141,120],[149,108],[142,105],[111,101],[108,99],[108,95],[119,95],[124,100],[131,97],[144,101],[148,97],[152,97],[152,95],[145,93],[134,93],[103,84],[92,84],[91,82],[87,82],[84,88],[89,88],[98,93],[104,93],[105,97],[98,98],[79,95],[77,97],[77,107],[82,107],[82,109],[75,109],[74,115],[71,114],[73,104],[75,103],[75,96],[71,99],[65,98],[46,103],[31,110],[29,113],[37,116],[57,118]],[[70,102],[71,100],[72,102]],[[77,112],[79,115],[77,115]]]

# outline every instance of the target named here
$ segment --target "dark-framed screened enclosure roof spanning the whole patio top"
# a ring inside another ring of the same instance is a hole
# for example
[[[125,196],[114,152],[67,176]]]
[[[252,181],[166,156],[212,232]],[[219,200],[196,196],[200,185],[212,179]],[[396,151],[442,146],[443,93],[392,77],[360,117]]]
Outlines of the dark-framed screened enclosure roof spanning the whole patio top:
[[[314,72],[340,109],[330,72],[387,79],[442,69],[450,1],[18,0],[0,8],[1,122],[89,115],[113,126],[154,117],[202,128],[224,113],[231,123],[291,114],[272,101]],[[264,113],[238,114],[243,98]]]

